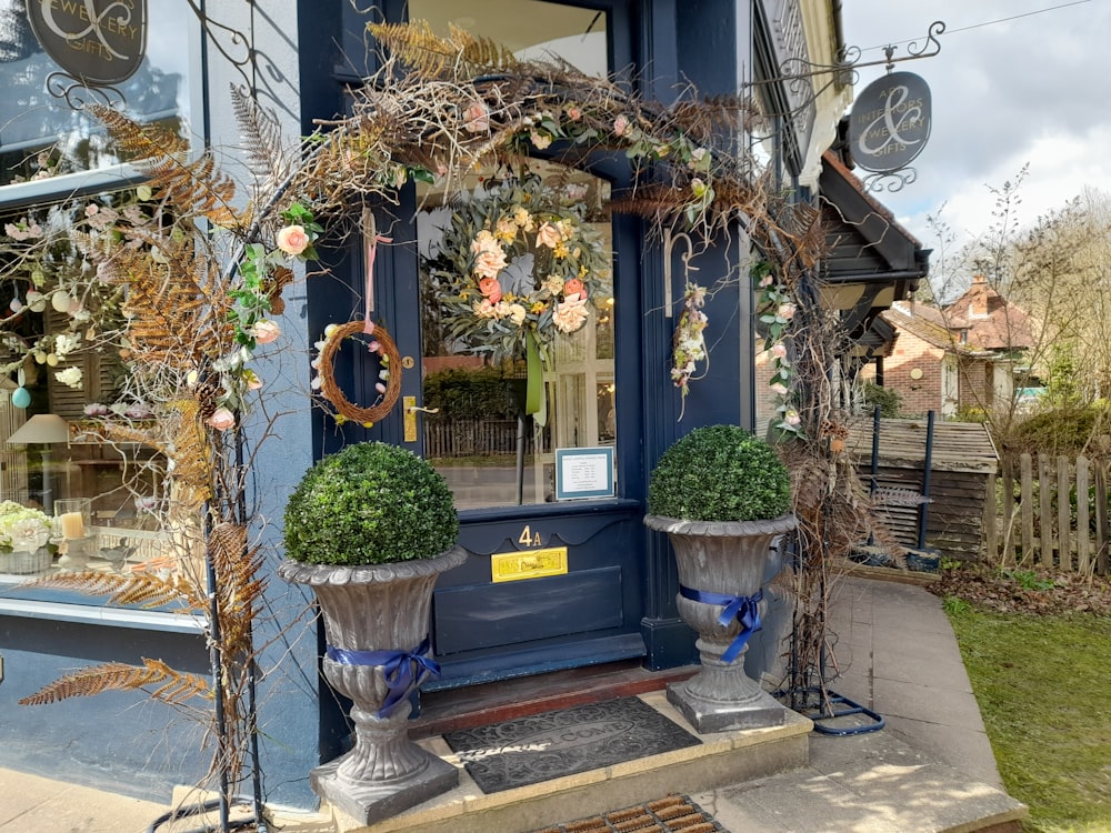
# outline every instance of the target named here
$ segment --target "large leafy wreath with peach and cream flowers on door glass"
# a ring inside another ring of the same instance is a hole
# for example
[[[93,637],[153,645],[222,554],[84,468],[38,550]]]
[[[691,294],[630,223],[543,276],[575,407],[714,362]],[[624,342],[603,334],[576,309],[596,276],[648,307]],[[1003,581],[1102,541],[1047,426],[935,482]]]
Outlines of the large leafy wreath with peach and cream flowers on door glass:
[[[612,293],[611,254],[585,220],[585,187],[537,174],[483,183],[453,205],[422,263],[446,338],[494,362],[579,331]]]

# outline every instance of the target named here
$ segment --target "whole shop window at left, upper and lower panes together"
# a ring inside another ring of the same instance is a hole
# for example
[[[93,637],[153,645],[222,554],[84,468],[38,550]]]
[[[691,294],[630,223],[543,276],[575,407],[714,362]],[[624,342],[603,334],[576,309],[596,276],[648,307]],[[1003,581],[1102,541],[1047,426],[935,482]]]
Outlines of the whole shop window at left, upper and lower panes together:
[[[3,245],[66,225],[63,210],[88,211],[90,222],[98,210],[134,210],[126,204],[133,194],[58,208],[78,189],[134,174],[88,104],[200,143],[200,27],[188,4],[118,3],[82,21],[90,8],[0,2],[0,528],[6,514],[52,519],[46,561],[0,546],[8,596],[13,584],[83,563],[169,574],[181,560],[166,532],[166,460],[141,441],[153,414],[129,392],[126,357],[103,331],[110,317],[96,310],[101,331],[82,323],[82,309],[111,301],[77,290],[98,283],[71,245],[51,247],[33,265]],[[84,534],[63,534],[63,514],[66,532],[79,521]]]

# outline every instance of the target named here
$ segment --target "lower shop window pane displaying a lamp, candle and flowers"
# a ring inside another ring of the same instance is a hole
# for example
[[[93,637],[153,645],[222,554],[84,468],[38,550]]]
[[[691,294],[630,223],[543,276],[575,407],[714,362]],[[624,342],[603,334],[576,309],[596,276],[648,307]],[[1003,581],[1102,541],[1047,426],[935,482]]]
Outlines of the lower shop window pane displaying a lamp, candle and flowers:
[[[126,200],[82,205],[127,210]],[[0,228],[41,229],[63,222],[60,211],[0,215]],[[111,337],[118,289],[82,284],[82,257],[63,239],[32,263],[0,254],[0,586],[64,569],[176,566],[163,532],[172,502],[166,461],[141,442],[154,414],[127,384],[126,355]],[[42,518],[49,540],[34,555],[11,528]]]

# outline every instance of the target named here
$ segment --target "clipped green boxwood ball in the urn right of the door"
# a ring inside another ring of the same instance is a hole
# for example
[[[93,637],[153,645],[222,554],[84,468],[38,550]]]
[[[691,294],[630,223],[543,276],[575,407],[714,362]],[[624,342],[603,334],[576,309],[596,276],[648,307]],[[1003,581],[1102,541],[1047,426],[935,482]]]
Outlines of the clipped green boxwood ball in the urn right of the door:
[[[697,428],[660,458],[648,511],[688,521],[761,521],[791,509],[791,479],[775,451],[739,425]]]

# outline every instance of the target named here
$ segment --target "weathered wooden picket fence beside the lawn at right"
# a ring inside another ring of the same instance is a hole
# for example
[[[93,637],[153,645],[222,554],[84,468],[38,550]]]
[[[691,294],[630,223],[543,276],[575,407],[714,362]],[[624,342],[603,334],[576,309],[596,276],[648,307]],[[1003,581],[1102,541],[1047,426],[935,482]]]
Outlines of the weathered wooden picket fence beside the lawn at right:
[[[1108,574],[1111,518],[1109,463],[1049,454],[1003,458],[989,478],[984,511],[988,558],[1004,566],[1038,566]]]

